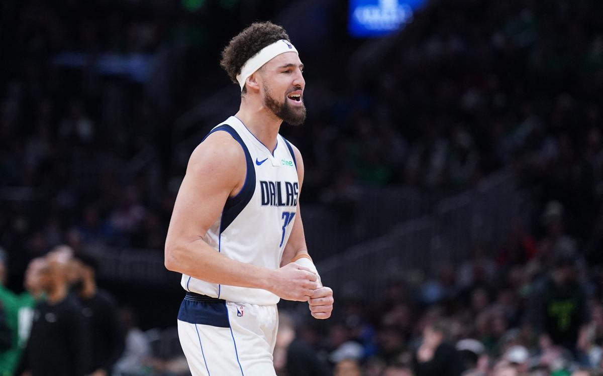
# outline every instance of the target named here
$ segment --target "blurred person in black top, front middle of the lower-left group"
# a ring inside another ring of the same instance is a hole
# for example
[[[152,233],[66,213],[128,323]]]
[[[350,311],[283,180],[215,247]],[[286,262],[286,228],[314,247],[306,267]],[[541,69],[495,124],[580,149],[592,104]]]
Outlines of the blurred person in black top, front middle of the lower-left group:
[[[81,305],[68,293],[65,260],[57,255],[43,259],[39,283],[46,299],[34,308],[30,339],[15,374],[86,375],[89,369],[88,331]]]

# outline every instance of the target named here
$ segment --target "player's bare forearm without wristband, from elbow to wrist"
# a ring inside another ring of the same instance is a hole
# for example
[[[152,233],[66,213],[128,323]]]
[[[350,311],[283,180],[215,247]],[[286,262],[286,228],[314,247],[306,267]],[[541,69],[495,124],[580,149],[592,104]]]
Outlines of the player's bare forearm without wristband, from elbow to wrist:
[[[273,284],[273,271],[270,269],[232,260],[201,239],[166,246],[165,266],[171,271],[209,283],[267,290]]]

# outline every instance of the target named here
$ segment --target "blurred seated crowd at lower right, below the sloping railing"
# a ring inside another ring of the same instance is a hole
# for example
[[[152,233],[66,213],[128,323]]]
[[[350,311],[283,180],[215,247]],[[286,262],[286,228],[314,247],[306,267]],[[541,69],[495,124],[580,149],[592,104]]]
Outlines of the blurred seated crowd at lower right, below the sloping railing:
[[[564,213],[551,201],[540,238],[516,227],[502,248],[478,245],[437,275],[403,271],[381,296],[339,295],[328,323],[283,318],[275,359],[292,354],[279,375],[602,375],[603,249],[580,248]]]

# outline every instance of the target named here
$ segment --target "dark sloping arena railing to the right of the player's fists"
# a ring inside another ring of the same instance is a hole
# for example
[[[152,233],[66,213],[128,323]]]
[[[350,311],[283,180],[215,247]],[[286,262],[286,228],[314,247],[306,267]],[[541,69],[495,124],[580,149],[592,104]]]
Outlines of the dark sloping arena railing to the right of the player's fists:
[[[529,200],[504,171],[475,189],[443,199],[431,215],[396,225],[377,239],[318,263],[324,284],[349,298],[378,298],[392,281],[435,274],[472,257],[476,245],[496,254],[514,221],[528,221]]]

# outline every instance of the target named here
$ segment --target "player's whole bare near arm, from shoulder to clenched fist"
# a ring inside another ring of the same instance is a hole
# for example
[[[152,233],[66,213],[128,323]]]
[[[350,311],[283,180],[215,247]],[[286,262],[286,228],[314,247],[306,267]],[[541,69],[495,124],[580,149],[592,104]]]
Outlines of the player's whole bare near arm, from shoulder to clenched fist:
[[[307,269],[288,268],[283,272],[283,268],[273,271],[241,263],[203,240],[226,199],[241,190],[246,168],[241,146],[224,131],[210,134],[195,149],[169,223],[165,266],[209,283],[265,289],[284,299],[305,301],[311,295],[307,290],[316,285]],[[288,289],[291,293],[286,292]]]

